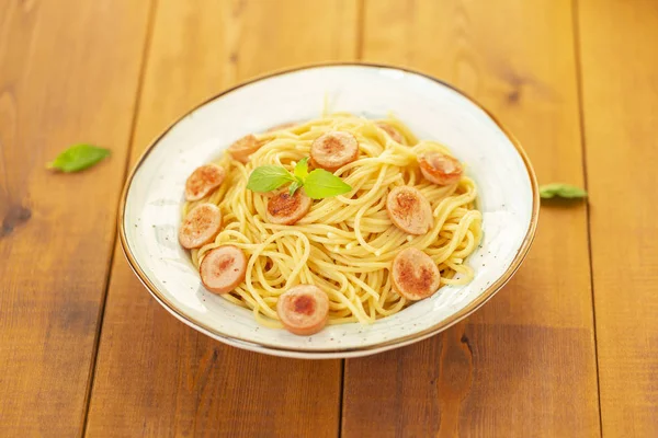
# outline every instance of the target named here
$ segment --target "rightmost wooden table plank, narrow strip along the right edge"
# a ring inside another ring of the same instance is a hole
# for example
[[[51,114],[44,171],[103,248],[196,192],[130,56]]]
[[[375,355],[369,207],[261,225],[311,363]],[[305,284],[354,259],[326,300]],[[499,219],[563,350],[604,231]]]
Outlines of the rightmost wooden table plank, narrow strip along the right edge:
[[[658,3],[579,2],[603,435],[658,436]]]

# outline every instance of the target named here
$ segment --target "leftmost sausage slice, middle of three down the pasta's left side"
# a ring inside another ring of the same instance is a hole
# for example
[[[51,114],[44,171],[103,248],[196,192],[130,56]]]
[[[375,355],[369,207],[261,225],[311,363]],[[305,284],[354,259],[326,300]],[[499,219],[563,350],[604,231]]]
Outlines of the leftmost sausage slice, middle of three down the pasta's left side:
[[[222,228],[222,211],[215,204],[201,204],[194,207],[181,224],[179,242],[191,250],[200,247],[215,239]]]

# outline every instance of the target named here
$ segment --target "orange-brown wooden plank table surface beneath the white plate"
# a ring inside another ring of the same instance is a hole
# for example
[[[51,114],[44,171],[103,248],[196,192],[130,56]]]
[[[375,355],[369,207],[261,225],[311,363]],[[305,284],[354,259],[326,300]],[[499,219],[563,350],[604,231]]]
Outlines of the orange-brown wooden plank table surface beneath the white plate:
[[[517,134],[531,255],[466,322],[363,359],[224,346],[116,245],[126,172],[180,114],[324,60],[445,79]],[[1,0],[0,436],[657,437],[658,2]],[[70,143],[112,149],[79,174]]]

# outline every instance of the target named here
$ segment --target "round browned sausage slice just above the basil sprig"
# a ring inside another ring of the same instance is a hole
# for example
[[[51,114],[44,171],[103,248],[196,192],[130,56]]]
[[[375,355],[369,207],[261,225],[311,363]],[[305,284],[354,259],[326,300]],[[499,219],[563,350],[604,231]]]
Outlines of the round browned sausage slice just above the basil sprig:
[[[334,130],[314,140],[310,161],[314,166],[333,172],[359,158],[359,141],[350,132]]]

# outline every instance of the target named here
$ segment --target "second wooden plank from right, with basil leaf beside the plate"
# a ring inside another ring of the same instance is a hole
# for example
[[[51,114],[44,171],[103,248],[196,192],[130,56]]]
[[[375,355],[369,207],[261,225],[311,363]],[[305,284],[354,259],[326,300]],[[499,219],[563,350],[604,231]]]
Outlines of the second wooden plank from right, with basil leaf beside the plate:
[[[451,81],[518,135],[540,182],[582,184],[571,12],[566,0],[371,1],[364,59]],[[342,418],[345,437],[598,436],[586,208],[543,207],[524,266],[466,322],[347,360]]]

